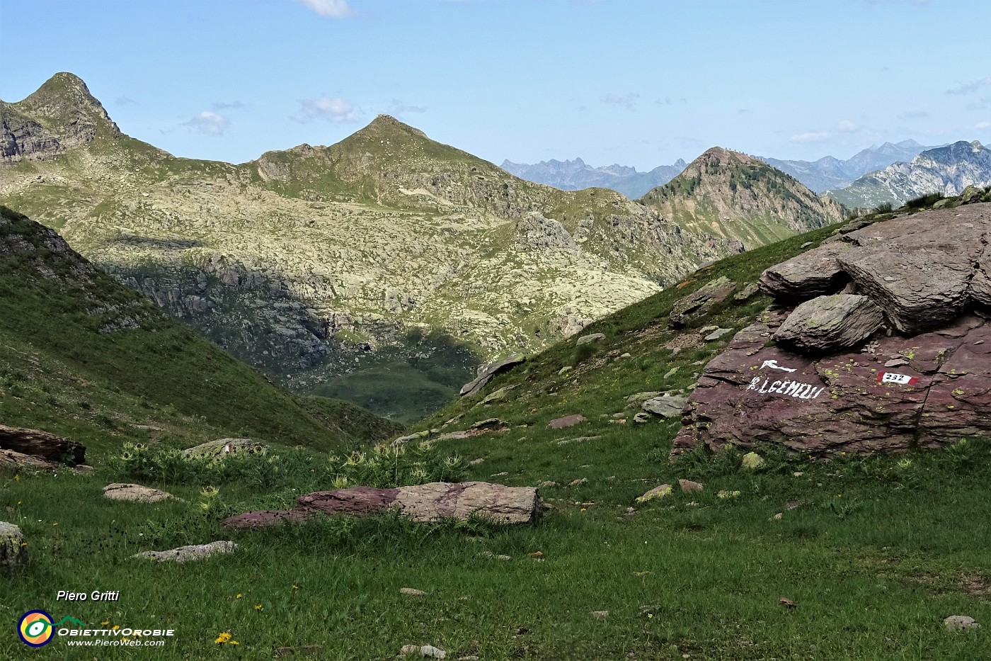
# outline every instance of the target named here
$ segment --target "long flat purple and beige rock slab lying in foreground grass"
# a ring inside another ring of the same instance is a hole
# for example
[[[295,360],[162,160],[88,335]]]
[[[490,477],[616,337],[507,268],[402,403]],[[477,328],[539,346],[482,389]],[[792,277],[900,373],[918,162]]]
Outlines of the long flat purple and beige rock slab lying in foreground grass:
[[[291,510],[248,512],[229,517],[229,528],[262,528],[283,522],[302,522],[316,514],[378,514],[398,508],[416,521],[442,518],[467,520],[481,516],[498,523],[527,523],[542,512],[532,486],[505,486],[491,482],[430,482],[398,488],[352,486],[300,496]]]

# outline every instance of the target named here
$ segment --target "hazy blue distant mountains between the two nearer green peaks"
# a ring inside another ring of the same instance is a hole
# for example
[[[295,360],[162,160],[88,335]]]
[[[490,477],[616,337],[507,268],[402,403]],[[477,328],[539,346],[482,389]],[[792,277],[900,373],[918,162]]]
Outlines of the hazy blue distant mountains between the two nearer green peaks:
[[[593,168],[582,159],[574,161],[541,161],[533,165],[502,161],[499,166],[510,175],[537,184],[546,184],[562,191],[582,189],[612,189],[627,198],[636,199],[647,191],[663,186],[681,174],[685,161],[678,159],[674,165],[657,166],[650,172],[637,172],[636,168],[610,165]]]

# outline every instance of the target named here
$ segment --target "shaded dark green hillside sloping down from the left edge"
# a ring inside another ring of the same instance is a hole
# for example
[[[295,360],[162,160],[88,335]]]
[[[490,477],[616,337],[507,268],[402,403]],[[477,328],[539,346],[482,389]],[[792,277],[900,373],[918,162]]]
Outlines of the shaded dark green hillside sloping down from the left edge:
[[[328,449],[396,429],[351,405],[301,405],[2,206],[0,421],[77,440],[89,461],[125,441]]]

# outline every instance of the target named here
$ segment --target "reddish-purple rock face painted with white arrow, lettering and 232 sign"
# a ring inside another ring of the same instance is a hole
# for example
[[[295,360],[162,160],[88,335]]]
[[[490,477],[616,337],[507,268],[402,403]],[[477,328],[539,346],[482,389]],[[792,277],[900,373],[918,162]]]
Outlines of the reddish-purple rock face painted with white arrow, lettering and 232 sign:
[[[937,331],[880,336],[811,358],[765,346],[770,310],[705,367],[674,454],[698,444],[780,443],[814,455],[934,448],[991,432],[991,325],[963,316]],[[892,359],[905,364],[885,367]]]

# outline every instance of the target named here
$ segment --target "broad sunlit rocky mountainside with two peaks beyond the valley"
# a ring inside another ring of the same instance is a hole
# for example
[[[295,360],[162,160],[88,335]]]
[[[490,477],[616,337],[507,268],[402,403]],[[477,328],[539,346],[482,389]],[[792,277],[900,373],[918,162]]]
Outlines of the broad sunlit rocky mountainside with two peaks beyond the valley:
[[[524,182],[387,116],[237,166],[174,158],[109,119],[28,154],[64,115],[48,108],[101,107],[71,74],[43,90],[2,107],[21,128],[0,201],[300,389],[385,369],[406,401],[453,396],[414,363],[442,357],[468,380],[481,358],[545,346],[736,249],[612,191]]]

